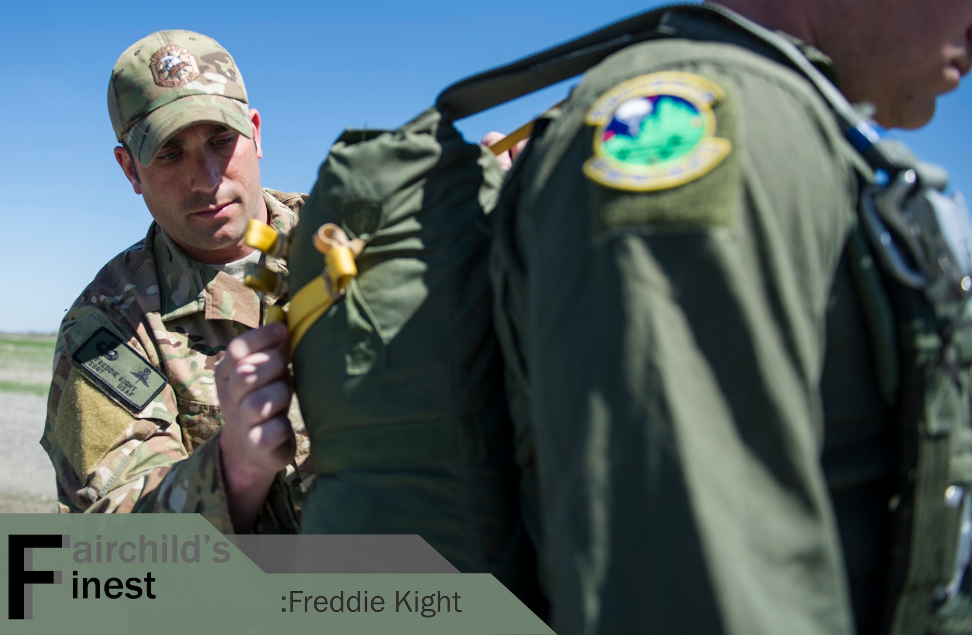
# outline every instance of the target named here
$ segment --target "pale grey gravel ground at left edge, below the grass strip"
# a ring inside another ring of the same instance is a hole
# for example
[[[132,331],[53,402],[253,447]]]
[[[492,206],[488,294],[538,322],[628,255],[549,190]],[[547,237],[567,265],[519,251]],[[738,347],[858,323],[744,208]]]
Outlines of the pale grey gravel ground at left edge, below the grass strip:
[[[38,441],[47,396],[0,392],[0,514],[55,511],[54,469]]]

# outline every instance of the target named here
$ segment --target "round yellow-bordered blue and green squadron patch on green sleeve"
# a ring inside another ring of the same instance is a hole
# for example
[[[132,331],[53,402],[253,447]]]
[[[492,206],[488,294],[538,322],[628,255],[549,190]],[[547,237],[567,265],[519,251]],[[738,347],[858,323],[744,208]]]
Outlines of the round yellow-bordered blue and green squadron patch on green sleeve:
[[[732,150],[728,139],[714,136],[712,105],[723,97],[711,81],[674,71],[614,86],[587,113],[587,124],[597,131],[584,174],[637,192],[698,179]]]

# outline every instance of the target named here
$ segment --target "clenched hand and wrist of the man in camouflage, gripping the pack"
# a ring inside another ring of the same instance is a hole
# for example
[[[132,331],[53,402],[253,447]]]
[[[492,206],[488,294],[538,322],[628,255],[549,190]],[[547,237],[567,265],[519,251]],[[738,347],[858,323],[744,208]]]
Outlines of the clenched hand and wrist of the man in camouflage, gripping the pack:
[[[223,410],[220,435],[229,516],[237,532],[248,531],[274,474],[294,459],[294,429],[287,418],[293,388],[289,341],[283,324],[269,324],[237,337],[216,368]]]

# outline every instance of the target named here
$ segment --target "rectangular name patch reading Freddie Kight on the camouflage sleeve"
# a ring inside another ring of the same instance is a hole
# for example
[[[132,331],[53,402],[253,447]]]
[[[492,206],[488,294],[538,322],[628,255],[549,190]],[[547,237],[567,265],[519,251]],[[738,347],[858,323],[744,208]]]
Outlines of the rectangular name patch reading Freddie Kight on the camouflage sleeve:
[[[144,410],[168,384],[145,357],[104,326],[87,338],[72,357],[98,385],[135,412]]]

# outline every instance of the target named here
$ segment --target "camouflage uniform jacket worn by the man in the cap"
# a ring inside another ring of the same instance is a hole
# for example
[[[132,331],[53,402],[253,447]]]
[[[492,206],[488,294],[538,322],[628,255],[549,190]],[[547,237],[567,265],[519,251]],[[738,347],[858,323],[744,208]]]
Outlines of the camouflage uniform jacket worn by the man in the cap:
[[[304,197],[264,189],[263,198],[270,224],[290,231]],[[214,371],[273,299],[195,262],[155,222],[105,265],[64,317],[54,351],[41,445],[59,511],[197,512],[232,533]],[[309,442],[295,405],[290,416],[302,468]],[[287,472],[299,484],[302,470]],[[274,481],[258,532],[297,529],[289,488]]]

